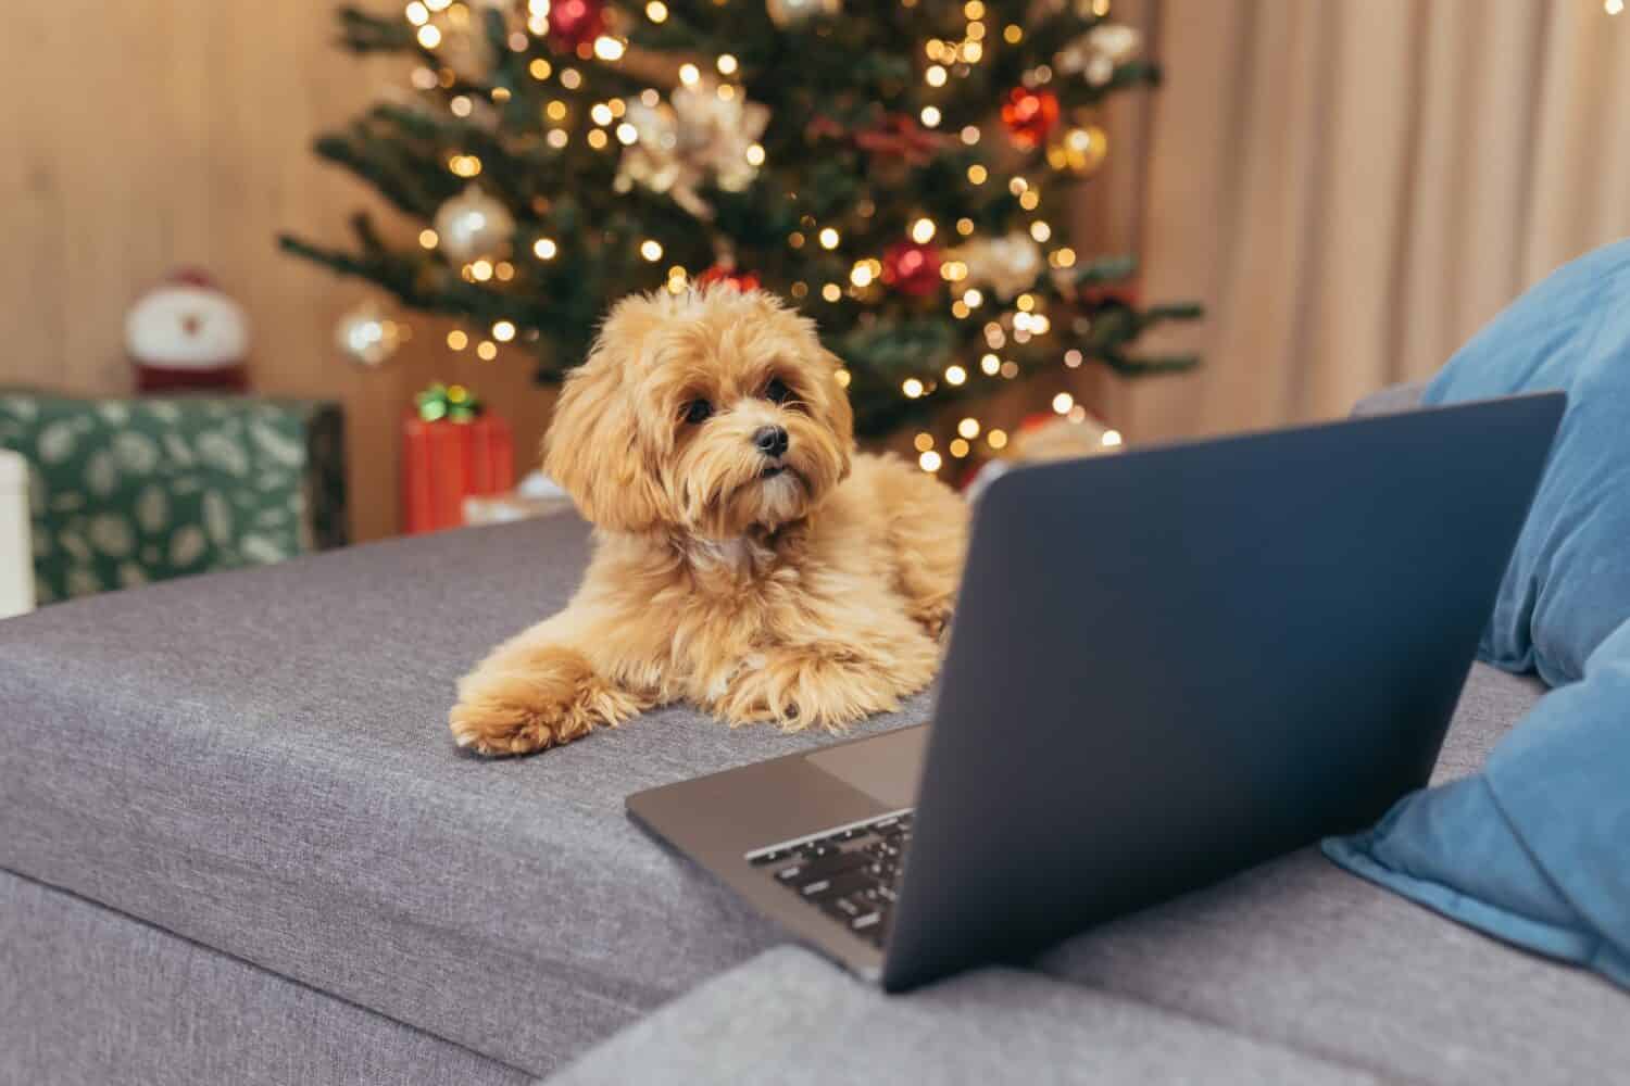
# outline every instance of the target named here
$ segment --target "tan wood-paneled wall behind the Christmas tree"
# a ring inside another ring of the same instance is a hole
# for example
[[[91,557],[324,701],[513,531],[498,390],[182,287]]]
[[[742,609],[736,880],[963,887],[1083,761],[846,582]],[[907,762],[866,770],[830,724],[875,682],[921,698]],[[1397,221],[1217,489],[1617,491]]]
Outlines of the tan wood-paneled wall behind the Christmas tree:
[[[419,388],[479,389],[512,422],[523,466],[553,396],[531,384],[520,352],[491,363],[453,355],[447,326],[422,319],[393,363],[352,368],[334,348],[334,324],[368,288],[277,252],[280,230],[341,239],[355,208],[377,207],[310,143],[399,86],[403,70],[334,49],[333,10],[331,0],[10,5],[0,384],[127,392],[126,309],[170,272],[200,267],[249,309],[256,389],[346,405],[352,537],[365,541],[398,531],[399,420]],[[1148,26],[1143,0],[1117,11]],[[1112,169],[1076,223],[1089,251],[1134,241],[1146,116],[1138,103],[1113,114]],[[1118,394],[1105,379],[1068,381],[1113,418]],[[1011,425],[1064,383],[1060,371],[1033,396],[1014,389],[999,415]]]

